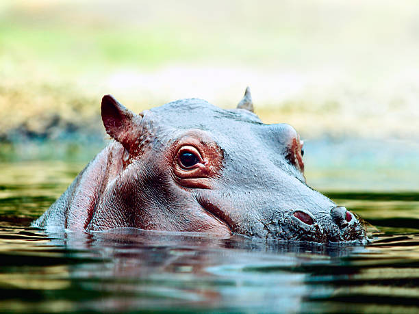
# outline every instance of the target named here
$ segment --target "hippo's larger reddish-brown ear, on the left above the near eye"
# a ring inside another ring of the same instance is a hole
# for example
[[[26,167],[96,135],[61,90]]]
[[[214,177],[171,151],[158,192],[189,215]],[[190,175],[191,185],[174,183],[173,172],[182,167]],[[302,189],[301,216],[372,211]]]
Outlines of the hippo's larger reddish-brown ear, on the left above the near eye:
[[[106,133],[131,151],[140,137],[142,116],[125,108],[111,95],[103,96],[101,110]]]

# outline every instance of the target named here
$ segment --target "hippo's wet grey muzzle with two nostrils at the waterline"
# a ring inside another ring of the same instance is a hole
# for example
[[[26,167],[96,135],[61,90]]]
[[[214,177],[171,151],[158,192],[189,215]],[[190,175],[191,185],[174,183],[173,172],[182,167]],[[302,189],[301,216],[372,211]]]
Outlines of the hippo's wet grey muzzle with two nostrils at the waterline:
[[[364,223],[355,214],[335,205],[305,183],[297,184],[301,187],[295,188],[303,190],[303,195],[301,191],[283,193],[273,204],[267,204],[272,195],[265,198],[264,193],[256,193],[258,197],[247,202],[238,202],[245,198],[240,193],[227,194],[228,199],[225,194],[214,196],[210,193],[199,198],[199,203],[225,222],[232,233],[250,237],[321,243],[366,239]]]

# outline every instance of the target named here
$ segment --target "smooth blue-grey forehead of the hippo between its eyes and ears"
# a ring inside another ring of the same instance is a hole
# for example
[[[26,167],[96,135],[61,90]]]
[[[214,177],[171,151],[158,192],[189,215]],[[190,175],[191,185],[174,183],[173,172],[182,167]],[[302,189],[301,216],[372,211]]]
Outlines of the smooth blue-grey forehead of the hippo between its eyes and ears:
[[[305,182],[303,174],[285,159],[288,141],[298,136],[290,125],[266,125],[249,110],[221,109],[203,99],[181,99],[149,112],[152,114],[144,112],[144,120],[150,116],[151,124],[157,122],[170,130],[157,132],[157,138],[168,136],[168,140],[176,140],[186,130],[199,129],[210,134],[226,159],[231,157],[227,165],[230,168],[257,167],[264,171],[275,166]]]

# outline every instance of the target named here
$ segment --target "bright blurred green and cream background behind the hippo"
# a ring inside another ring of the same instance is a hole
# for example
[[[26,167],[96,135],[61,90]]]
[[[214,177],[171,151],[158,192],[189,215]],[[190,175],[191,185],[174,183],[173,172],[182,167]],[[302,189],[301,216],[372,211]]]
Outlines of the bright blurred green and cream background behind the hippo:
[[[0,161],[84,163],[103,94],[227,108],[250,86],[264,122],[306,140],[317,186],[340,169],[344,186],[419,188],[416,0],[3,0],[0,64]]]

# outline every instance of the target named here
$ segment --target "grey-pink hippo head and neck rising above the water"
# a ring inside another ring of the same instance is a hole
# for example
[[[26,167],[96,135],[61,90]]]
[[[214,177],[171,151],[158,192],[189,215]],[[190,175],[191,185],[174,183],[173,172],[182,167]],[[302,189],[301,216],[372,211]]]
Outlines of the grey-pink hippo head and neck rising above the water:
[[[367,239],[355,214],[307,185],[299,134],[264,124],[249,88],[236,109],[181,99],[140,114],[105,95],[101,117],[110,144],[32,226]]]

